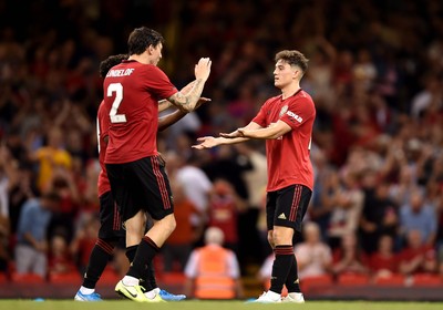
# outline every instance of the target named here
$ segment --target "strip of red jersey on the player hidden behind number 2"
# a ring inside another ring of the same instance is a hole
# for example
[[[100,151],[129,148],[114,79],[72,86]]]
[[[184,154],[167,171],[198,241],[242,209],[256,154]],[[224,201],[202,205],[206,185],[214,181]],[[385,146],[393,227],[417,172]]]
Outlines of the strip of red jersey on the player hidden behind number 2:
[[[107,178],[106,167],[104,165],[104,157],[106,154],[105,137],[109,135],[110,130],[110,110],[104,104],[104,101],[100,103],[97,112],[97,143],[99,143],[99,162],[102,170],[99,174],[99,197],[104,193],[111,190],[110,179]]]

